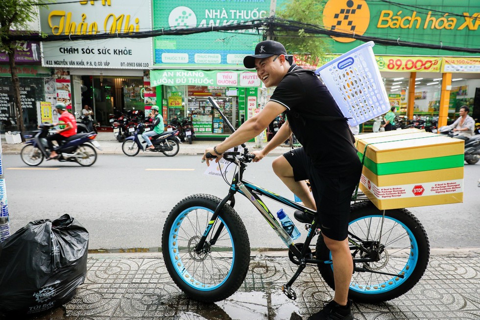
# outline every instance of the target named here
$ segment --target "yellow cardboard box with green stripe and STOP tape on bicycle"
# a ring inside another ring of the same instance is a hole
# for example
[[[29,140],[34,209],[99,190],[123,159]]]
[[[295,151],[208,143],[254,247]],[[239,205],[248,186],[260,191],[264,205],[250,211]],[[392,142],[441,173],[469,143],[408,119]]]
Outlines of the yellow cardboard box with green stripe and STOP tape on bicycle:
[[[360,189],[379,209],[463,201],[462,140],[417,129],[355,138],[360,160],[365,153]]]

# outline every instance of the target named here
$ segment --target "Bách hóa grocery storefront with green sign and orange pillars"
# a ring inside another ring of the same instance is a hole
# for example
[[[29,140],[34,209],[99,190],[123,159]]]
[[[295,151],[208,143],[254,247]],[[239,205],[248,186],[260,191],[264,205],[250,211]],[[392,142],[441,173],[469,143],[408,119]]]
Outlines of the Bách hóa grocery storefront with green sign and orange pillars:
[[[461,51],[478,48],[480,24],[472,19],[478,12],[480,4],[473,2],[465,7],[458,1],[419,5],[416,0],[401,4],[329,0],[323,15],[326,27],[352,35],[426,44],[424,48],[377,44],[373,50],[396,114],[445,125],[458,117],[464,104],[470,107],[470,115],[480,119],[480,54]],[[329,51],[337,54],[326,56],[318,65],[362,43],[352,37],[332,37]],[[429,49],[428,44],[460,51]],[[371,130],[371,124],[365,123],[365,131]]]

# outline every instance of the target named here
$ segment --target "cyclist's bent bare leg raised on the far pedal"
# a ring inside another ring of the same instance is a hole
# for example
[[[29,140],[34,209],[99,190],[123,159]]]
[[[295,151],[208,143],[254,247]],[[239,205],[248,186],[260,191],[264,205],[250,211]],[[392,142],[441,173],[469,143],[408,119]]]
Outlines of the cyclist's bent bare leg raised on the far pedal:
[[[307,208],[316,210],[315,200],[305,181],[295,181],[293,178],[293,168],[283,155],[279,156],[272,163],[273,172],[282,180],[283,183],[302,200]]]

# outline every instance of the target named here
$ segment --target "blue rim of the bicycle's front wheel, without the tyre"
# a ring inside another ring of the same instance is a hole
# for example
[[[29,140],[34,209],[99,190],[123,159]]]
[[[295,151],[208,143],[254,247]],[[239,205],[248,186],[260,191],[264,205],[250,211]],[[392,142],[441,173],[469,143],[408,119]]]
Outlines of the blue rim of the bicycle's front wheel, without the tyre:
[[[232,262],[230,264],[230,268],[229,268],[225,278],[220,283],[218,283],[218,284],[203,283],[198,278],[196,278],[194,274],[191,274],[187,270],[187,268],[185,268],[184,261],[182,261],[182,255],[189,255],[188,248],[179,249],[177,240],[179,239],[178,233],[181,230],[181,225],[182,225],[183,219],[185,217],[187,217],[188,214],[191,213],[194,210],[204,210],[205,212],[209,212],[210,213],[209,217],[211,217],[213,215],[213,211],[208,209],[208,208],[205,208],[205,207],[191,207],[191,208],[188,208],[188,209],[184,210],[180,215],[178,215],[177,218],[175,219],[175,221],[173,222],[173,224],[171,226],[171,229],[170,229],[170,233],[169,233],[169,235],[170,235],[169,239],[168,239],[169,256],[170,256],[173,268],[175,268],[175,271],[177,272],[178,276],[186,284],[188,284],[189,286],[191,286],[192,288],[194,288],[196,290],[212,291],[212,290],[215,290],[215,289],[219,288],[220,286],[222,286],[225,283],[225,281],[227,281],[227,279],[230,277],[230,274],[232,273],[233,266],[235,264],[235,246],[233,244],[233,241],[231,241]],[[220,220],[221,222],[223,222],[223,228],[227,231],[230,239],[232,239],[232,235],[230,233],[230,230],[228,229],[225,222],[220,217],[218,217],[217,219]],[[194,236],[198,236],[198,235],[201,236],[204,231],[205,230],[200,230],[200,234],[195,234]],[[212,235],[212,232],[215,232],[215,231],[210,230],[209,235]],[[209,238],[207,238],[207,241],[208,240],[209,240]],[[180,251],[180,250],[184,250],[185,252]],[[189,255],[189,258],[190,258],[190,255]],[[212,272],[214,272],[214,271],[212,271]]]

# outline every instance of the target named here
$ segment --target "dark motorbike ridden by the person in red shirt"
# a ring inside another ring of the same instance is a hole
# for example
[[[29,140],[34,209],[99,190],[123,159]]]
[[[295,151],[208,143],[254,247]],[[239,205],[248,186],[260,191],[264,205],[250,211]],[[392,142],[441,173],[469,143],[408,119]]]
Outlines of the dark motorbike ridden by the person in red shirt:
[[[50,156],[50,151],[47,143],[47,136],[49,130],[53,127],[51,123],[42,123],[39,125],[40,130],[35,131],[32,139],[25,142],[25,147],[20,152],[22,161],[28,166],[38,166],[42,163],[44,158]],[[95,141],[96,133],[80,133],[71,137],[65,138],[60,142],[56,149],[60,162],[70,161],[76,162],[80,166],[90,167],[96,161],[95,148],[101,150],[100,144]],[[91,145],[90,145],[91,144]],[[95,147],[92,147],[92,145]]]

